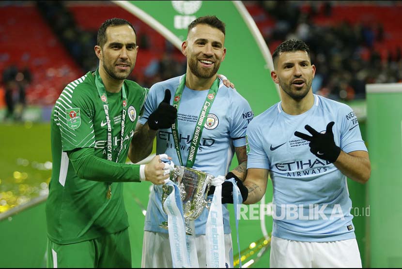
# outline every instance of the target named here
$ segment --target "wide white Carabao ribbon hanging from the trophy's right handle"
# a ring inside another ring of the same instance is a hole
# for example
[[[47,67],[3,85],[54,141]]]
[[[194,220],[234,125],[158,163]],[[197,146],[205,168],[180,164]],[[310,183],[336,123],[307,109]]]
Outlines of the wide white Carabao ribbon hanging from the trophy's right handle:
[[[205,229],[207,268],[226,268],[225,265],[225,235],[223,230],[222,213],[222,183],[225,177],[218,176],[212,179],[215,186],[214,197],[209,209]]]

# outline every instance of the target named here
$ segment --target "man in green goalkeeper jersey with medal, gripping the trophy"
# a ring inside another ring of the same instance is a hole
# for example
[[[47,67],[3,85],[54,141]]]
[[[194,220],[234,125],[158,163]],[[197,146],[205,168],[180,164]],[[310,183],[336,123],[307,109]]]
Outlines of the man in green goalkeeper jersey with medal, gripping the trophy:
[[[133,26],[107,20],[94,49],[99,68],[68,84],[52,112],[48,267],[131,267],[123,182],[163,184],[169,178],[168,165],[160,161],[165,154],[146,165],[125,164],[148,94],[125,80],[138,52]],[[176,109],[170,96],[165,99],[154,116],[170,126]]]

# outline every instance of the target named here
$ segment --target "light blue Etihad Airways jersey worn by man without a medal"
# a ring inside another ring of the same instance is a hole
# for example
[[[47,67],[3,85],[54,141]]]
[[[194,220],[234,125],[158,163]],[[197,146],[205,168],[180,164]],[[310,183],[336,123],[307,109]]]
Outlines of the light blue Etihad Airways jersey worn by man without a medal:
[[[318,95],[301,115],[286,114],[279,102],[247,128],[247,169],[270,170],[275,237],[310,242],[356,238],[346,176],[312,154],[309,141],[294,135],[310,135],[306,124],[325,132],[331,121],[337,146],[346,153],[367,151],[353,110]]]

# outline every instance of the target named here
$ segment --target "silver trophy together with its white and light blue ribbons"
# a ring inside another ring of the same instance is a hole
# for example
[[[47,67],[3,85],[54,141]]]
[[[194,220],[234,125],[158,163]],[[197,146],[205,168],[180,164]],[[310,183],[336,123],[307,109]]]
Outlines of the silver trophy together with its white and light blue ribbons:
[[[165,163],[164,169],[166,170],[166,174],[172,172],[173,170],[173,173],[175,173],[175,181],[172,181],[170,179],[165,180],[167,188],[164,189],[164,192],[162,194],[162,203],[163,209],[168,215],[168,221],[160,225],[161,227],[167,228],[169,232],[173,268],[200,268],[195,243],[196,233],[194,220],[202,212],[202,207],[205,207],[206,201],[203,200],[204,198],[202,198],[202,196],[206,194],[204,193],[201,196],[190,196],[190,198],[194,198],[194,200],[189,200],[189,196],[185,195],[194,195],[194,193],[192,193],[194,191],[192,187],[195,186],[193,185],[193,182],[198,182],[196,183],[196,185],[198,184],[197,195],[200,195],[202,193],[201,190],[207,191],[205,189],[206,184],[215,186],[214,196],[211,201],[211,206],[209,208],[208,219],[205,227],[206,266],[207,268],[226,268],[227,265],[225,257],[225,235],[221,200],[222,183],[226,180],[225,177],[218,176],[214,178],[212,175],[196,169],[183,166],[174,167],[173,162],[171,162],[167,158],[161,158],[161,160]],[[198,179],[202,179],[204,181],[194,181],[194,179],[197,179],[197,175],[200,176],[201,174],[203,175],[203,177],[201,176]],[[233,186],[233,206],[236,215],[237,243],[239,245],[237,208],[238,205],[242,203],[242,197],[240,194],[240,190],[235,183],[235,180],[228,179],[226,181],[231,182]],[[186,182],[189,185],[186,185]],[[176,183],[178,183],[180,186],[178,186]],[[188,189],[186,189],[185,186],[188,186]],[[171,191],[168,191],[168,188]],[[207,189],[209,190],[209,187]],[[190,191],[191,193],[187,193],[187,191]],[[165,194],[166,196],[164,196]],[[184,201],[186,201],[186,203],[184,203]],[[201,204],[204,205],[199,207],[198,211],[188,211],[189,209],[193,210],[193,204],[189,204],[189,201],[196,201],[197,203],[203,201],[201,202]],[[184,213],[184,211],[186,211],[186,213]],[[228,266],[232,268],[233,264],[230,264]]]

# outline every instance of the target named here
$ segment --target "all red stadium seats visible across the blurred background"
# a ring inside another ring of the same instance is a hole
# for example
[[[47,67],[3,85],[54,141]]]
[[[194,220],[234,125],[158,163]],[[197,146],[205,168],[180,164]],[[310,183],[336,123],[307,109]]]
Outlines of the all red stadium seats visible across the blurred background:
[[[153,60],[162,59],[166,50],[165,38],[120,6],[112,3],[99,4],[99,2],[94,4],[72,2],[67,5],[82,30],[96,31],[111,15],[125,18],[133,23],[140,46],[134,70],[134,75],[139,81],[143,80],[145,70]],[[269,35],[275,25],[274,18],[258,4],[258,1],[246,1],[245,5],[263,36]],[[301,4],[300,10],[310,13],[311,6],[308,3]],[[319,5],[312,21],[322,26],[348,21],[352,25],[363,23],[373,28],[381,22],[384,27],[384,38],[382,41],[375,41],[373,49],[385,60],[389,51],[394,52],[402,44],[400,14],[402,14],[401,5],[334,4],[329,15],[324,14],[323,6]],[[269,47],[272,50],[280,42],[275,40]],[[173,49],[173,55],[175,59],[183,60],[179,50]],[[361,52],[362,58],[368,58],[369,55],[368,50]],[[18,68],[30,68],[32,83],[27,89],[27,102],[35,105],[53,104],[64,85],[87,71],[77,66],[46,25],[36,7],[29,2],[21,6],[0,8],[0,72],[14,63]]]

